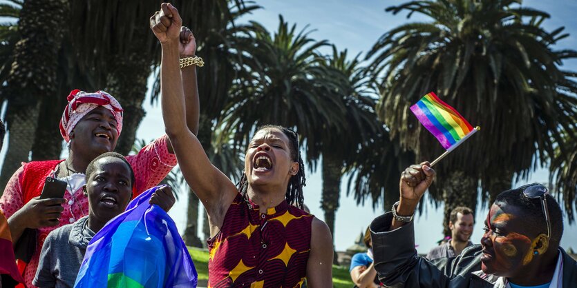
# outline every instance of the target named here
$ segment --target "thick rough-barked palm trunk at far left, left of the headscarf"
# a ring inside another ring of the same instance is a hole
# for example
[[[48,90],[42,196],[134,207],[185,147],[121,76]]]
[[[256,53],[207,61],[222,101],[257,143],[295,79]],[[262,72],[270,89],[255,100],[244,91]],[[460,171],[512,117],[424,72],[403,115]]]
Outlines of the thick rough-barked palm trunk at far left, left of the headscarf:
[[[8,99],[9,141],[0,176],[1,190],[20,163],[29,161],[41,97],[56,94],[58,50],[67,8],[66,0],[28,0],[22,5],[19,19],[22,38],[15,45],[12,70],[2,89]]]

